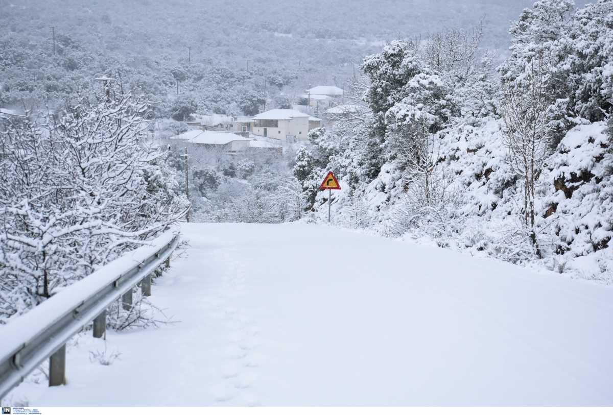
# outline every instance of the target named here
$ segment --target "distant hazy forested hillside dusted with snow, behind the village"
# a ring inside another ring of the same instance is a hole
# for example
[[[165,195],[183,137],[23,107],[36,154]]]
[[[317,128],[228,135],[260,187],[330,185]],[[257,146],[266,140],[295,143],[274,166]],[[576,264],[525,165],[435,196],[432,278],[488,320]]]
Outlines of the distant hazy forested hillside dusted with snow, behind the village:
[[[529,4],[1,0],[0,104],[61,101],[106,73],[161,102],[158,116],[177,91],[202,111],[241,113],[241,100],[264,95],[264,78],[271,105],[281,90],[292,100],[309,84],[343,86],[387,40],[481,17],[482,46],[504,54],[509,21]]]

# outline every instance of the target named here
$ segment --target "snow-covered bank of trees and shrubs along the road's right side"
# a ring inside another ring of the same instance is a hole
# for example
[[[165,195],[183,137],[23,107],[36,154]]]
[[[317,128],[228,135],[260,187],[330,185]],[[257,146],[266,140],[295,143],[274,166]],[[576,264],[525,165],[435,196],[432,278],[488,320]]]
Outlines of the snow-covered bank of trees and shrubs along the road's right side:
[[[332,200],[336,223],[356,227],[359,211],[386,235],[613,282],[612,7],[536,2],[512,24],[500,80],[479,66],[487,54],[468,53],[478,31],[398,40],[366,58],[371,112],[302,151],[303,170],[350,184]],[[458,76],[449,45],[470,56],[471,76]],[[311,198],[325,220],[325,195]]]

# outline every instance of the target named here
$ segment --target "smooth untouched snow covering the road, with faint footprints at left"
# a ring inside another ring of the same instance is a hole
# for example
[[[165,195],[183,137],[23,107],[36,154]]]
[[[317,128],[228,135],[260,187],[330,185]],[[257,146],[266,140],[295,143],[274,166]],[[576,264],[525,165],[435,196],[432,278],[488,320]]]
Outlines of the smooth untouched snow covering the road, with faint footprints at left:
[[[78,337],[67,386],[34,375],[9,400],[613,405],[611,287],[321,225],[183,231],[151,297],[177,323],[109,333],[108,366]]]

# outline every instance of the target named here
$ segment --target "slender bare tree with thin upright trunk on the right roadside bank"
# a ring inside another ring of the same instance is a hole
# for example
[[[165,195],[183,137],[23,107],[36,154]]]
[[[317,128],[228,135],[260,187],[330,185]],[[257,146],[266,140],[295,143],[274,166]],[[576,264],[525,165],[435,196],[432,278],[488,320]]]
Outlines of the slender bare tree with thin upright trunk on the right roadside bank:
[[[541,256],[535,231],[535,187],[549,148],[547,76],[542,61],[533,61],[525,76],[503,85],[503,144],[513,171],[524,181],[524,222],[535,253]]]

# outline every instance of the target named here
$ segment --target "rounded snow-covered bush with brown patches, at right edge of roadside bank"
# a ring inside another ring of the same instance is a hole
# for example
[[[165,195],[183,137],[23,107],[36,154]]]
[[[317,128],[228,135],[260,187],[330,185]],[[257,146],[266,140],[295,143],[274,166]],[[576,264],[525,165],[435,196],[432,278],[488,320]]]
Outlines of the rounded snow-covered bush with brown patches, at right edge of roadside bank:
[[[613,237],[613,154],[604,122],[571,130],[547,160],[544,220],[555,251],[573,256],[611,250]]]

